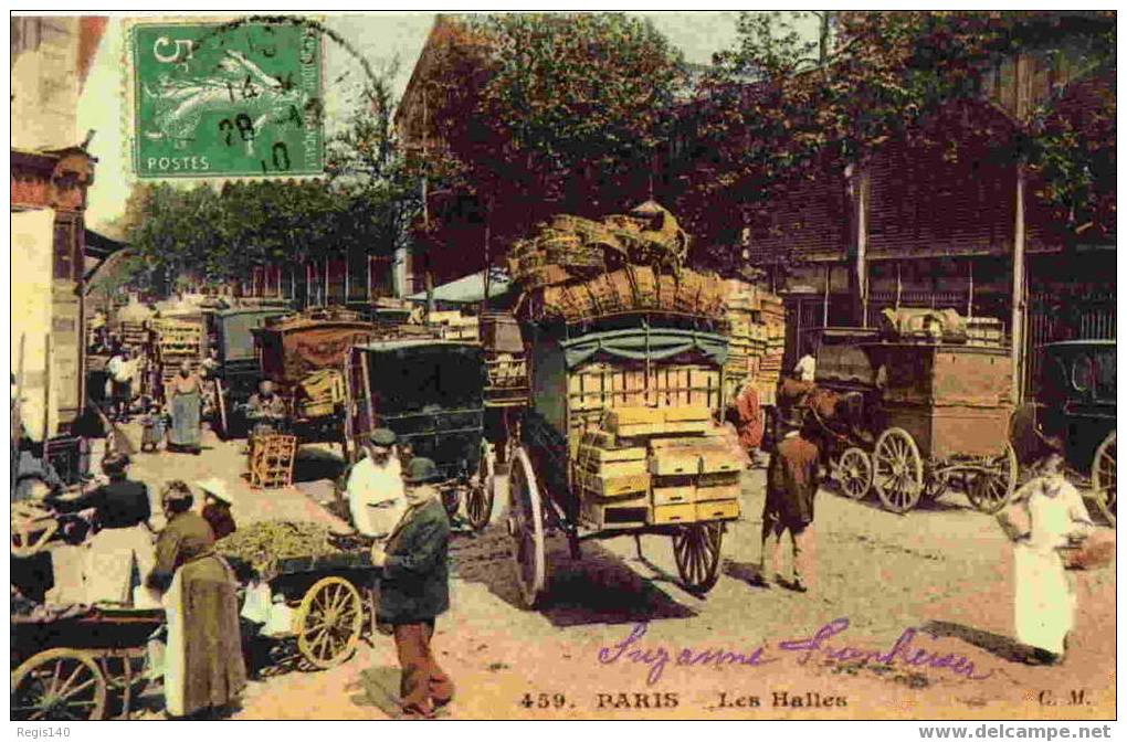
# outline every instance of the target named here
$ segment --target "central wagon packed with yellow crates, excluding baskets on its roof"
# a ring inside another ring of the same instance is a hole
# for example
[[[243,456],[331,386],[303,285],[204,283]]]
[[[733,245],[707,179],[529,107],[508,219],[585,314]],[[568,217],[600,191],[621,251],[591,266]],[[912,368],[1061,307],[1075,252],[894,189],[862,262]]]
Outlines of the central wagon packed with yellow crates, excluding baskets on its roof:
[[[532,402],[508,518],[524,605],[547,591],[550,531],[574,558],[588,539],[669,536],[684,587],[707,592],[745,463],[715,422],[727,338],[700,318],[656,313],[524,330]]]

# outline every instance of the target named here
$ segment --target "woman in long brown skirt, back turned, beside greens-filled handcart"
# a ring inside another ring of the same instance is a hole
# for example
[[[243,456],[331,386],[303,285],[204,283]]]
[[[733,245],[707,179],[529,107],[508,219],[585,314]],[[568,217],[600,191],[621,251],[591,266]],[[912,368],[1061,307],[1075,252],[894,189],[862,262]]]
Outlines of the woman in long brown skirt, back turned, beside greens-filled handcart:
[[[234,573],[215,553],[211,526],[192,511],[188,485],[170,482],[160,499],[168,525],[145,584],[163,593],[165,708],[174,717],[213,714],[230,708],[247,685]]]

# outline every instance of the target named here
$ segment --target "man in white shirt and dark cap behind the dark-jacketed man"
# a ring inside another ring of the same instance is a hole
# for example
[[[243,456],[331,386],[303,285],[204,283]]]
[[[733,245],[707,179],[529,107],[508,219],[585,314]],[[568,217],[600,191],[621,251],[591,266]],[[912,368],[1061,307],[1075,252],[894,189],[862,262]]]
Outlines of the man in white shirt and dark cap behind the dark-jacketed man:
[[[348,512],[362,536],[385,539],[407,508],[396,433],[387,428],[373,430],[364,453],[345,485]]]

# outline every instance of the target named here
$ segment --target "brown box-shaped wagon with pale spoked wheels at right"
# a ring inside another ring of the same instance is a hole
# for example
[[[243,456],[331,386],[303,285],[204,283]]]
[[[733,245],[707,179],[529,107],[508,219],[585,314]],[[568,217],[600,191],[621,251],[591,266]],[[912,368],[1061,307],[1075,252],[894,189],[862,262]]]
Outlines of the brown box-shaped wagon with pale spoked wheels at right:
[[[878,394],[861,417],[869,435],[835,456],[841,490],[861,499],[871,486],[885,508],[907,512],[958,485],[979,510],[1000,510],[1018,482],[1009,440],[1009,349],[887,341],[857,347],[863,355],[843,351],[843,358],[868,360],[871,376],[858,378]]]

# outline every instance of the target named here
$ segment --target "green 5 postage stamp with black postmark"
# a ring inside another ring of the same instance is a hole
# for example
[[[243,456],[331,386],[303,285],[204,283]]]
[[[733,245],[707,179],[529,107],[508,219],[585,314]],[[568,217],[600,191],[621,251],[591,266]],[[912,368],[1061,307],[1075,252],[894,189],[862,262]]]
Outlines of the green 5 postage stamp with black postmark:
[[[295,176],[323,169],[321,38],[311,25],[132,29],[141,178]]]

